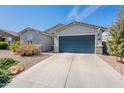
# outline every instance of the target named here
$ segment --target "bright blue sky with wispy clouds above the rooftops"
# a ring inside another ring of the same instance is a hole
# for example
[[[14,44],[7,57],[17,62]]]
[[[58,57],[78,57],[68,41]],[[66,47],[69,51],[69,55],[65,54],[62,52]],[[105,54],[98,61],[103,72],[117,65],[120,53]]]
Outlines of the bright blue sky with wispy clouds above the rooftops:
[[[41,31],[57,24],[80,21],[110,27],[120,6],[20,5],[0,6],[0,29],[19,32],[27,27]],[[124,10],[124,6],[121,6]]]

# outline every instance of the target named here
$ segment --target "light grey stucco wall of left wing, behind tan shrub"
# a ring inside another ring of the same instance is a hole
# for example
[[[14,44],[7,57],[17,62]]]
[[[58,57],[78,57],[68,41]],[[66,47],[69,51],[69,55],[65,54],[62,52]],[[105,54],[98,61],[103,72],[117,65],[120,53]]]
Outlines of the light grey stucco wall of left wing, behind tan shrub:
[[[40,34],[36,31],[25,31],[24,33],[20,34],[20,41],[21,43],[27,43],[28,38],[27,36],[31,34],[33,36],[33,43],[34,44],[41,44],[43,51],[50,51],[53,47],[53,38]]]

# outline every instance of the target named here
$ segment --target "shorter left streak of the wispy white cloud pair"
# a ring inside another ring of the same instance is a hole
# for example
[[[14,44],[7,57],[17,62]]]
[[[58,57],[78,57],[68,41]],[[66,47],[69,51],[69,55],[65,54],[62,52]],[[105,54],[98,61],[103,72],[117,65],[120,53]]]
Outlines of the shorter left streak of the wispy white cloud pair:
[[[78,14],[79,6],[74,6],[73,9],[69,12],[67,16],[67,21],[69,20],[75,20],[77,14]]]

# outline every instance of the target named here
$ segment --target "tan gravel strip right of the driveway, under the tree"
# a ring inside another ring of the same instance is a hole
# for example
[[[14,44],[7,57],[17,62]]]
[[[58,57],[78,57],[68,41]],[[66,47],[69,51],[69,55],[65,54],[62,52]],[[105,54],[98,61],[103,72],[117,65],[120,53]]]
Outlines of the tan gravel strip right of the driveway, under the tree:
[[[112,66],[116,71],[124,75],[124,63],[117,62],[115,56],[98,55],[101,59]]]

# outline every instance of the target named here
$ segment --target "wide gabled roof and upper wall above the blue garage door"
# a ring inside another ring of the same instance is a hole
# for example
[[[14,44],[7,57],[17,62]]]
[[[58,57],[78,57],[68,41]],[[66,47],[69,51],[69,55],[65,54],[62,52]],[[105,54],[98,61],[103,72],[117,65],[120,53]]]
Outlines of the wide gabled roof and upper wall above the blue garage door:
[[[87,24],[87,23],[83,23],[83,22],[77,22],[77,21],[74,21],[74,22],[72,22],[72,23],[70,23],[70,24],[67,24],[67,25],[63,25],[63,24],[60,24],[60,25],[56,25],[56,26],[54,26],[54,27],[52,27],[52,28],[50,28],[50,29],[48,29],[48,30],[46,30],[45,32],[46,33],[49,33],[49,34],[51,34],[51,35],[56,35],[56,33],[58,34],[58,33],[63,33],[63,31],[65,31],[65,30],[70,30],[70,28],[71,29],[73,29],[73,30],[76,30],[77,32],[76,33],[80,33],[80,30],[82,30],[82,29],[84,29],[83,31],[84,31],[84,33],[85,33],[85,31],[87,31],[87,33],[88,33],[88,31],[92,31],[92,32],[90,32],[90,33],[96,33],[96,31],[98,30],[98,29],[100,29],[99,31],[101,31],[101,32],[104,32],[107,28],[105,28],[105,27],[101,27],[101,26],[96,26],[96,25],[92,25],[92,24]],[[61,32],[62,31],[62,32]],[[81,33],[83,32],[83,31],[81,31]],[[95,31],[95,32],[94,32]],[[70,31],[71,32],[71,31]],[[68,34],[68,32],[65,32],[65,33],[67,33]],[[72,33],[74,34],[75,33],[75,31],[72,31]],[[76,34],[75,33],[75,34]]]

